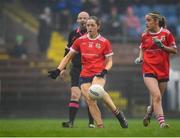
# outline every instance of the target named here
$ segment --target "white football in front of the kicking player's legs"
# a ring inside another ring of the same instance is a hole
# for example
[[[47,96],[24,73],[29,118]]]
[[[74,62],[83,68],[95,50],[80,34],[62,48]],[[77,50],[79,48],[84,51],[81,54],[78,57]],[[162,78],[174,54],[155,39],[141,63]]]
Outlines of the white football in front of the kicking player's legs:
[[[104,93],[104,88],[99,84],[93,84],[89,88],[89,96],[94,100],[101,99]]]

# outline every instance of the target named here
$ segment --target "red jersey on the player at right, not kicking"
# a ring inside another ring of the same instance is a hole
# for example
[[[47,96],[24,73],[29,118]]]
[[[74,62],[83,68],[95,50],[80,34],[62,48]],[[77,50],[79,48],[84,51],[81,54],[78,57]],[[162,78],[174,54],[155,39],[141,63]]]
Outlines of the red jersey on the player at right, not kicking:
[[[167,29],[161,28],[157,33],[142,34],[140,48],[143,50],[143,73],[154,73],[157,76],[169,77],[169,53],[159,48],[153,38],[161,40],[167,47],[176,47],[174,36]]]

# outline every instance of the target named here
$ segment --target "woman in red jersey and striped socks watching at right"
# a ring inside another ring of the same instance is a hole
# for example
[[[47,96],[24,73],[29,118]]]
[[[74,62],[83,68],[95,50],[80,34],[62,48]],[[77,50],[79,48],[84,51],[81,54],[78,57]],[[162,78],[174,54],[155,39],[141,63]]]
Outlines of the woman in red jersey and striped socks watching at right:
[[[139,57],[135,63],[142,63],[143,79],[151,96],[151,105],[143,119],[148,126],[152,113],[156,115],[161,128],[168,128],[162,108],[162,96],[169,80],[169,54],[177,53],[175,40],[166,29],[165,18],[157,12],[145,16],[146,31],[142,34]]]

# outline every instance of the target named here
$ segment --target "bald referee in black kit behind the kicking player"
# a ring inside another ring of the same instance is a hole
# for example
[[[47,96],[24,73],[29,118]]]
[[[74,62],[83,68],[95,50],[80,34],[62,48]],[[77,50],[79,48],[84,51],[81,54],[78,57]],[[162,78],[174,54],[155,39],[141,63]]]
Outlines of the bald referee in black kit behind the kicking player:
[[[73,42],[83,36],[87,30],[86,30],[86,21],[89,18],[89,14],[87,12],[80,12],[78,14],[77,17],[77,23],[79,24],[79,27],[75,30],[73,30],[70,34],[69,34],[69,38],[68,38],[68,44],[67,47],[65,48],[65,53],[64,56],[67,55],[67,53],[69,52],[69,49],[71,47],[71,45],[73,44]],[[71,77],[71,98],[70,98],[70,102],[69,102],[69,121],[67,122],[63,122],[62,126],[63,127],[73,127],[73,123],[76,117],[76,114],[78,112],[79,109],[79,100],[81,97],[81,90],[79,88],[79,75],[81,72],[81,55],[77,54],[73,60],[72,60],[72,66],[71,66],[71,70],[70,70],[70,77]],[[61,77],[64,76],[66,70],[63,70],[61,72]],[[89,108],[88,109],[88,117],[89,117],[89,127],[90,128],[94,128],[94,120],[89,112]]]

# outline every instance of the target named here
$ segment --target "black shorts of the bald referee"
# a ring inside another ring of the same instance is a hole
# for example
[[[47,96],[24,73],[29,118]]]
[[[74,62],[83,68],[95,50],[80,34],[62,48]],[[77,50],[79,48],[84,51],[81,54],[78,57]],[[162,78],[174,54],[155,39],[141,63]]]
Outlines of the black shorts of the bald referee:
[[[73,86],[79,87],[80,73],[81,73],[81,67],[72,66],[71,71],[70,71],[71,87]]]

